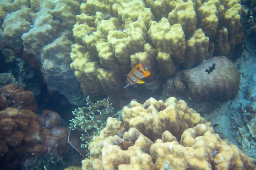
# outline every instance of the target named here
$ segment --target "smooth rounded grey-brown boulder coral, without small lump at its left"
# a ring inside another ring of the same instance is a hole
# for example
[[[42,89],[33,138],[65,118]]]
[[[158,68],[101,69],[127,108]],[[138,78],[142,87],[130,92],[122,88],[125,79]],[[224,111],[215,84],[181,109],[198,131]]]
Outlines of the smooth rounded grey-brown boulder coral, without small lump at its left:
[[[207,73],[206,69],[215,69]],[[240,74],[233,62],[224,56],[212,57],[195,68],[183,72],[183,80],[192,99],[228,101],[236,97]]]

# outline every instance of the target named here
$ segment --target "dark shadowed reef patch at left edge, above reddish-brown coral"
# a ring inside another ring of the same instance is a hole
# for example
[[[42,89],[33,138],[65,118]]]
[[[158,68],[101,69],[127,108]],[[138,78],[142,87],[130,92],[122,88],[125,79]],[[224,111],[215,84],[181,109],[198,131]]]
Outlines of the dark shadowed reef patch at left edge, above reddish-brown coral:
[[[0,29],[0,88],[14,83],[32,91],[35,97],[41,94],[41,73],[29,67],[22,59],[23,50],[10,47],[4,40]],[[41,62],[40,62],[41,63]]]

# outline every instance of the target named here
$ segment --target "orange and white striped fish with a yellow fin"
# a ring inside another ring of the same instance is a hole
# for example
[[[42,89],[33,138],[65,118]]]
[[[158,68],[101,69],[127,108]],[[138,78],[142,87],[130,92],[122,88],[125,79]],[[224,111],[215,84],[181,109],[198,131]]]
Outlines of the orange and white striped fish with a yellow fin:
[[[135,83],[138,84],[143,84],[145,83],[144,81],[140,80],[144,77],[148,77],[150,75],[150,72],[147,71],[148,69],[142,66],[142,64],[138,64],[136,65],[136,67],[134,67],[130,73],[127,75],[127,85],[124,88],[127,88],[129,85],[133,85]]]

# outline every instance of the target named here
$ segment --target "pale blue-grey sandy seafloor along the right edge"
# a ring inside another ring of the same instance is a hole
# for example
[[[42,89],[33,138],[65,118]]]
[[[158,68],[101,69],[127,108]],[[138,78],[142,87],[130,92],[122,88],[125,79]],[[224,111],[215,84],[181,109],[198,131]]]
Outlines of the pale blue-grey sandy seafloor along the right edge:
[[[212,125],[218,124],[215,131],[220,134],[222,139],[228,139],[244,150],[248,156],[256,158],[256,138],[248,133],[247,124],[251,116],[255,118],[256,111],[256,44],[255,40],[247,39],[244,43],[244,52],[236,60],[236,67],[239,70],[241,79],[239,92],[236,99],[222,103],[219,107],[212,110],[206,116],[207,121]],[[249,106],[251,106],[249,110]],[[254,112],[254,113],[253,113]],[[253,117],[252,117],[253,118]],[[254,125],[254,128],[256,125]],[[239,130],[240,128],[240,130]],[[241,129],[242,128],[242,129]],[[238,133],[239,132],[239,133]],[[241,132],[247,144],[241,145]],[[247,141],[246,141],[247,140]],[[254,142],[253,142],[254,141]],[[249,144],[250,143],[250,144]]]

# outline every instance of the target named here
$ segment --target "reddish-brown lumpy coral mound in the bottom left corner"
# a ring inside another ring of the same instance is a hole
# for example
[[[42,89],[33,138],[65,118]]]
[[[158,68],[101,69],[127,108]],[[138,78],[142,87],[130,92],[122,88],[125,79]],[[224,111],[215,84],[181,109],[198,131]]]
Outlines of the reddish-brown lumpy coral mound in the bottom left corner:
[[[41,126],[38,115],[30,110],[6,108],[0,111],[0,127],[0,169],[15,169],[28,156],[61,155],[70,150],[69,130]]]

